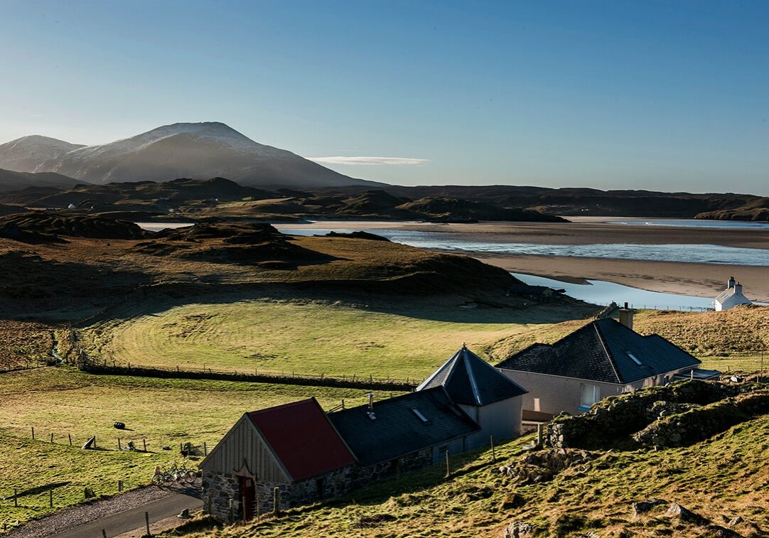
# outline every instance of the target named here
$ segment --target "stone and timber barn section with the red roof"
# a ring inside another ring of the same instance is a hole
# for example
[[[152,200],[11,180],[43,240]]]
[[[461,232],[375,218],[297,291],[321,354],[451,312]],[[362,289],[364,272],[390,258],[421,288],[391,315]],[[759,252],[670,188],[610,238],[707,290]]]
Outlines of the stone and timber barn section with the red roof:
[[[315,398],[245,413],[200,464],[204,510],[249,520],[273,510],[275,487],[281,509],[323,499],[354,465]]]

